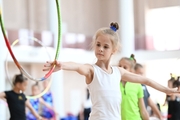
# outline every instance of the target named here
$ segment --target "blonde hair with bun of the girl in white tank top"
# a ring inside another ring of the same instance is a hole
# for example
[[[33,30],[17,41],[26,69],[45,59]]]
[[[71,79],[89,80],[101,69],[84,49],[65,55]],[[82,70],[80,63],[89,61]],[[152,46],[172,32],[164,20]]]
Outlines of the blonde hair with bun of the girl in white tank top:
[[[114,29],[112,29],[112,27]],[[100,28],[96,31],[94,37],[93,37],[93,42],[92,42],[92,49],[94,49],[95,46],[95,42],[96,39],[102,35],[102,34],[106,34],[110,36],[110,40],[112,42],[113,48],[116,49],[117,51],[120,50],[120,40],[119,40],[119,36],[118,33],[116,32],[116,30],[119,29],[119,25],[118,23],[111,23],[109,28]]]

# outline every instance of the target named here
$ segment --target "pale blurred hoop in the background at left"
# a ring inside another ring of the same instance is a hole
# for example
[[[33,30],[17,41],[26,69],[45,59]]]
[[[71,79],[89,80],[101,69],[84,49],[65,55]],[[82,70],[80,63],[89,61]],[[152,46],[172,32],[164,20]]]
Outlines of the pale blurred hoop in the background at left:
[[[32,40],[38,42],[40,45],[43,46],[43,44],[41,43],[41,41],[39,41],[38,39],[33,38]],[[16,45],[18,42],[19,42],[18,39],[15,40],[15,41],[12,43],[11,46],[13,47],[13,46]],[[43,47],[44,47],[44,46],[43,46]],[[46,49],[46,47],[44,47],[44,48]],[[47,51],[47,49],[46,49],[46,51]],[[50,57],[49,53],[48,53],[48,56]],[[6,69],[6,74],[7,74],[8,81],[9,81],[9,83],[11,84],[11,86],[13,87],[12,81],[10,80],[10,77],[9,77],[7,59],[8,59],[8,54],[7,54],[7,56],[6,56],[5,69]],[[35,96],[28,96],[28,95],[26,95],[26,98],[27,98],[27,99],[36,99],[36,98],[42,97],[42,96],[50,89],[51,84],[52,84],[52,79],[50,79],[47,87],[46,87],[41,93],[39,93],[38,95],[35,95]]]

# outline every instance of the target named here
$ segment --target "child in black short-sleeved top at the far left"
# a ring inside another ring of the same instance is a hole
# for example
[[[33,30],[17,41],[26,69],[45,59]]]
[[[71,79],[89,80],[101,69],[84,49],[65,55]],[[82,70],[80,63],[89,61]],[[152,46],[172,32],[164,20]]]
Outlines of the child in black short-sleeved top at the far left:
[[[10,120],[26,120],[25,107],[28,107],[38,120],[42,120],[42,117],[35,112],[23,93],[27,87],[27,78],[22,74],[15,75],[13,85],[12,90],[0,93],[0,98],[7,100]]]

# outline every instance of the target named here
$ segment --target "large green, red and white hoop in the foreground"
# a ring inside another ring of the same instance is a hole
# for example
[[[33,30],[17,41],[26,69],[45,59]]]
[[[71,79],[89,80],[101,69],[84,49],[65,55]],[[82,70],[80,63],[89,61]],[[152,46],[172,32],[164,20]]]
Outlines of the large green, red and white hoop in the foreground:
[[[56,8],[57,8],[57,16],[58,16],[58,44],[57,44],[57,48],[56,48],[56,54],[55,54],[55,58],[54,58],[54,61],[56,61],[59,57],[59,53],[60,53],[60,47],[61,47],[61,36],[62,36],[62,33],[61,33],[61,14],[60,14],[60,4],[59,4],[59,0],[56,0]],[[56,67],[56,64],[53,64],[52,65],[52,68],[44,75],[44,77],[42,78],[33,78],[31,75],[29,75],[24,69],[23,67],[19,64],[19,62],[17,61],[12,49],[11,49],[11,45],[9,43],[9,40],[6,36],[6,33],[5,33],[5,28],[4,28],[4,24],[3,24],[3,20],[2,20],[2,10],[0,9],[0,25],[1,25],[1,30],[2,30],[2,33],[3,33],[3,37],[4,37],[4,40],[5,40],[5,43],[6,43],[6,46],[8,48],[8,51],[14,61],[14,63],[16,64],[16,66],[18,67],[18,69],[27,77],[29,78],[30,80],[34,80],[34,81],[43,81],[43,80],[46,80],[47,78],[49,78],[49,76],[52,74],[54,68]]]

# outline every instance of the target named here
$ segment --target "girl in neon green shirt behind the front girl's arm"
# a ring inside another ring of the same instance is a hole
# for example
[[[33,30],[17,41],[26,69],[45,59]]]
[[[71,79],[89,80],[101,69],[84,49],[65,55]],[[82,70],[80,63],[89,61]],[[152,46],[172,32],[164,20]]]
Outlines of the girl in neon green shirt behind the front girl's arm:
[[[129,72],[134,72],[136,59],[132,54],[130,58],[123,57],[119,61],[119,67]],[[148,112],[143,100],[141,84],[121,80],[120,89],[122,94],[121,119],[122,120],[149,120]]]

